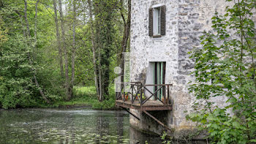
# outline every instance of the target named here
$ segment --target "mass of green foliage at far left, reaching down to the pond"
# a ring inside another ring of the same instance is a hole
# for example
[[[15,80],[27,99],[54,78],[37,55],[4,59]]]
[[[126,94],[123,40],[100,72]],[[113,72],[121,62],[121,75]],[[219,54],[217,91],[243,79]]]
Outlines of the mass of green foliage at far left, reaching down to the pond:
[[[29,1],[28,19],[33,27],[35,1]],[[48,50],[52,37],[53,18],[42,4],[38,6],[37,38],[25,37],[23,20],[23,3],[20,1],[1,1],[0,13],[0,107],[5,109],[15,107],[35,107],[44,104],[45,100],[39,94],[39,88],[45,96],[54,101],[62,99],[63,88],[59,70],[53,67],[53,54]],[[30,29],[34,35],[34,29]],[[34,42],[37,39],[37,42]],[[49,62],[51,61],[51,62]],[[47,65],[48,67],[45,67]],[[55,70],[53,70],[55,69]],[[39,86],[36,86],[34,75]]]

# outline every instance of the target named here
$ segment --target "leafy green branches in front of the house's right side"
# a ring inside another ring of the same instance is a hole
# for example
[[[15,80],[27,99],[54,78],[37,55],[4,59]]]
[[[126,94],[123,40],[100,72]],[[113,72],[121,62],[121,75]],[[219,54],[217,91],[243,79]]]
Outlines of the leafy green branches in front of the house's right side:
[[[214,31],[203,34],[202,49],[195,49],[195,83],[189,91],[196,96],[195,110],[187,116],[209,132],[211,143],[255,141],[256,73],[255,1],[238,1],[225,15],[212,18]],[[221,96],[221,97],[219,97]],[[225,107],[212,99],[227,98]],[[200,102],[205,102],[205,107]]]

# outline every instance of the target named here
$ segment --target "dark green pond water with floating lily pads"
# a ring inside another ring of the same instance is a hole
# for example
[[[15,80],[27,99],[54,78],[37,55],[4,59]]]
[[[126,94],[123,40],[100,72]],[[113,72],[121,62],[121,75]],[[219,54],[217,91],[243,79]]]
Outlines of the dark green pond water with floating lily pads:
[[[0,110],[0,143],[161,143],[129,126],[124,111]]]

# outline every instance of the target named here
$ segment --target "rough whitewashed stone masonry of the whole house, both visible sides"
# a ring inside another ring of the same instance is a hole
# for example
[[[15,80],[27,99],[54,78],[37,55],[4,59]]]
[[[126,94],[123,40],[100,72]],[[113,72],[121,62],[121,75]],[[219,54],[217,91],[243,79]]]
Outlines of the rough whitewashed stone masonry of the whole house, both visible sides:
[[[154,5],[165,5],[165,35],[148,36],[148,10]],[[171,99],[173,110],[151,112],[160,121],[173,129],[178,137],[180,132],[191,129],[193,124],[186,121],[187,113],[192,111],[193,96],[188,93],[187,83],[193,80],[189,75],[193,61],[187,52],[200,47],[199,37],[203,31],[211,30],[211,18],[214,12],[224,13],[225,0],[132,0],[131,18],[131,56],[130,80],[147,79],[151,61],[165,61],[165,83],[173,83]],[[152,83],[151,83],[152,84]],[[218,105],[225,105],[223,99],[214,99]],[[138,110],[130,110],[141,121],[130,116],[130,124],[137,129],[161,134],[162,128]]]

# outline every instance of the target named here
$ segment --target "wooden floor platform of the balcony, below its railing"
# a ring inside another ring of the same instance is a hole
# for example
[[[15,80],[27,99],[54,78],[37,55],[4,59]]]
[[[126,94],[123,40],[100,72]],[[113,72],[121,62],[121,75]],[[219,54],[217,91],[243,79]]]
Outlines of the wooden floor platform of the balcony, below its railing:
[[[123,101],[123,100],[116,100],[116,106],[125,107],[125,108],[132,108],[135,110],[172,110],[172,105],[163,105],[162,102],[158,100],[148,100],[143,105],[140,106],[140,102],[135,100],[133,102],[130,100]]]

